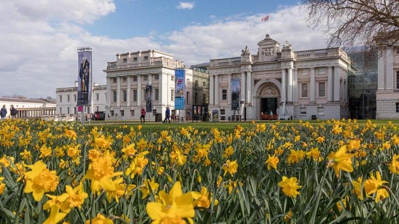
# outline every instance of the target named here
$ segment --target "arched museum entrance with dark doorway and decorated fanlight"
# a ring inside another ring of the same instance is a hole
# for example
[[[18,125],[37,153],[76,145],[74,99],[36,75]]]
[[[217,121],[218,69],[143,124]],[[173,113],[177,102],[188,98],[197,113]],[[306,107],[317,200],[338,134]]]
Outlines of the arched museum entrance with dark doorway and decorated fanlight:
[[[280,82],[275,79],[261,80],[255,85],[253,96],[257,117],[260,117],[261,113],[276,114],[280,105],[280,87]]]

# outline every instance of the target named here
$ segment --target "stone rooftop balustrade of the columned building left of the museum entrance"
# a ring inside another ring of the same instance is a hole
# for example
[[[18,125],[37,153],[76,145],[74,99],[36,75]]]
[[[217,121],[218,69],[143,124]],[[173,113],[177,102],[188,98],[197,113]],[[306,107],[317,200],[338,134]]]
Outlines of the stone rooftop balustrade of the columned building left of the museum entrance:
[[[185,67],[184,62],[166,58],[166,57],[157,57],[157,58],[151,58],[150,60],[147,60],[145,62],[136,62],[132,64],[118,64],[116,61],[115,62],[108,62],[107,63],[107,70],[112,70],[112,69],[126,69],[126,68],[137,68],[137,67],[146,67],[146,66],[159,66],[159,65],[164,65],[164,66],[170,66],[174,68],[181,68]]]

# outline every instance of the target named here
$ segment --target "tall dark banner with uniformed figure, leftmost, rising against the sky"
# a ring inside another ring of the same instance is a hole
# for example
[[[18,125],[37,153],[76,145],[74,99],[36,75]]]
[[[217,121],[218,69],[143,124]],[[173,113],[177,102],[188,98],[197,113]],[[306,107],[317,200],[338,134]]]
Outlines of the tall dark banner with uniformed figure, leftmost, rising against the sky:
[[[91,49],[89,49],[89,51],[86,49],[79,51],[78,49],[78,106],[91,104],[91,65]]]

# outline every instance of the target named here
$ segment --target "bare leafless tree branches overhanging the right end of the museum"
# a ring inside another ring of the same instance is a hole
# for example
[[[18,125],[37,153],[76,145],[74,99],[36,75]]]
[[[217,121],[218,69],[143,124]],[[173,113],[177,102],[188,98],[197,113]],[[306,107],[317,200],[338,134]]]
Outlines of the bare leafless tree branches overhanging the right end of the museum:
[[[303,0],[311,28],[325,29],[329,47],[376,49],[399,40],[399,0]]]

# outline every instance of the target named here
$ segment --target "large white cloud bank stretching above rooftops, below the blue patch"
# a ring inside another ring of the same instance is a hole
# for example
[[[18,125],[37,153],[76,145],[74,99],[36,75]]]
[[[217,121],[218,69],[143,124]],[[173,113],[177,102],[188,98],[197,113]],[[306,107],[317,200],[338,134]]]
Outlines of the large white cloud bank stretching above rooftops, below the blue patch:
[[[114,39],[84,31],[79,25],[81,11],[75,6],[69,9],[75,10],[71,13],[76,17],[58,11],[57,18],[63,19],[54,23],[52,18],[56,13],[47,11],[51,9],[48,6],[51,0],[41,0],[47,3],[35,6],[36,11],[30,13],[26,12],[26,5],[22,9],[21,2],[0,3],[0,21],[7,21],[0,23],[0,96],[55,97],[56,88],[72,86],[77,77],[76,48],[79,46],[92,46],[94,82],[105,84],[102,70],[107,62],[116,60],[116,53],[159,49],[192,65],[219,57],[239,56],[245,45],[255,54],[256,43],[267,33],[267,22],[260,22],[264,14],[240,14],[215,18],[210,24],[189,25],[170,33],[151,31],[147,36]],[[61,2],[68,7],[65,2],[70,1]],[[98,7],[90,20],[115,10],[111,0],[85,2]],[[321,32],[307,28],[304,14],[298,11],[298,6],[279,8],[271,14],[271,37],[281,44],[289,40],[294,50],[325,47]]]

